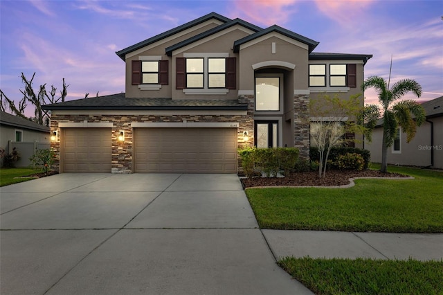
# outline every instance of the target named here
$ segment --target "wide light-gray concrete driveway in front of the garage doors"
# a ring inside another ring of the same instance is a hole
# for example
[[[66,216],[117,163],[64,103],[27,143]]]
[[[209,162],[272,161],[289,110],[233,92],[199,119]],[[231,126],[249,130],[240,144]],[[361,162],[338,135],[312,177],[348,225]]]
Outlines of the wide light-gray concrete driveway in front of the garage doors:
[[[0,188],[1,294],[310,294],[236,175],[61,174]]]

